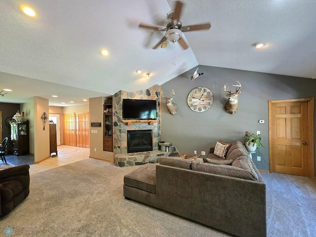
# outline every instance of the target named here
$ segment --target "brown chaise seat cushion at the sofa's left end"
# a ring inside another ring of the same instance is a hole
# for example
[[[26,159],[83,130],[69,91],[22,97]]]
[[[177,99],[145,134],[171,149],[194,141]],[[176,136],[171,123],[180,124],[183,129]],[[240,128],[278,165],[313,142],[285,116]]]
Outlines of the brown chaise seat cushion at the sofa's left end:
[[[124,184],[155,194],[156,164],[147,163],[125,174]]]

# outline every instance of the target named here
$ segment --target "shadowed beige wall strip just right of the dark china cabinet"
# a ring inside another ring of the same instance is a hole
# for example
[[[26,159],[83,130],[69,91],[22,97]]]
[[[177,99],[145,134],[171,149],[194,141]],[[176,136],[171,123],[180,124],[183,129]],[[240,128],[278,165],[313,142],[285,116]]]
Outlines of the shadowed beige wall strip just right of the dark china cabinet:
[[[30,153],[35,154],[34,148],[34,102],[20,104],[20,111],[24,111],[24,117],[29,121]]]

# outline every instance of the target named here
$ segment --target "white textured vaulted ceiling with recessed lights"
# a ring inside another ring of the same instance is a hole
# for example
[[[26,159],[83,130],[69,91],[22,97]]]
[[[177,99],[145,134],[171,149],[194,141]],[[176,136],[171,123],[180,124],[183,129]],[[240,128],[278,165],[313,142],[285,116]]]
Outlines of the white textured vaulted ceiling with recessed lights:
[[[22,1],[1,0],[0,90],[13,91],[0,102],[40,96],[49,105],[77,105],[121,89],[162,84],[189,70],[190,78],[197,65],[316,77],[315,0],[183,2],[183,25],[209,21],[212,27],[184,33],[190,48],[175,43],[173,56],[171,42],[151,49],[163,32],[138,28],[140,22],[164,25],[172,0],[23,1],[36,9],[36,18],[20,12]],[[266,47],[256,49],[257,41]],[[102,48],[110,51],[108,57],[99,53]]]

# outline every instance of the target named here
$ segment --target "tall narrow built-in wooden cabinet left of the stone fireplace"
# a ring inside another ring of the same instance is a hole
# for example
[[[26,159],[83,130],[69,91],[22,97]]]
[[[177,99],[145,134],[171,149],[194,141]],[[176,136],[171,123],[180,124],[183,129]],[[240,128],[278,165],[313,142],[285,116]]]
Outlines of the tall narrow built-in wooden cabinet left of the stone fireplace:
[[[113,152],[113,105],[112,98],[103,105],[103,151]]]

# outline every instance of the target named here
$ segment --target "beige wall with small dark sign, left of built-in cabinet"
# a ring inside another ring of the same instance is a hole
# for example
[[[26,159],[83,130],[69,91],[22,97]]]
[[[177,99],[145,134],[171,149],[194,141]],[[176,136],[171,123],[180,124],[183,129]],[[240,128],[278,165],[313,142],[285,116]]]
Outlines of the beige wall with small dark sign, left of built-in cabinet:
[[[101,122],[101,127],[90,127],[90,157],[114,161],[113,152],[103,151],[103,101],[104,97],[89,99],[90,122]],[[97,133],[91,133],[96,130]]]

